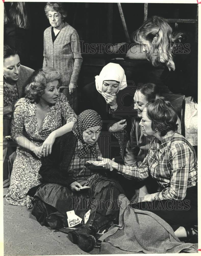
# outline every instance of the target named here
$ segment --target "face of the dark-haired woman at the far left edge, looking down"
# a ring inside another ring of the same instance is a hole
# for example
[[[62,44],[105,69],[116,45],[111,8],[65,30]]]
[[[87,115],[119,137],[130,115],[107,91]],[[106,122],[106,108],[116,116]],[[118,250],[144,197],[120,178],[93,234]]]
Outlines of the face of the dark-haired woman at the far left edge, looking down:
[[[4,59],[4,77],[8,82],[17,81],[20,73],[20,58],[18,54]]]

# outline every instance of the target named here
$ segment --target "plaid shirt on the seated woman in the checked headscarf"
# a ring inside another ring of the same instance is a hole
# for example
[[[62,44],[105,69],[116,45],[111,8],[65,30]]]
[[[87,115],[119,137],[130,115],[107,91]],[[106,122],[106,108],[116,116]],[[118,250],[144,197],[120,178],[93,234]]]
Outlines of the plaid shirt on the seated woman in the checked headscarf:
[[[93,154],[91,151],[89,151],[84,157],[79,158],[78,152],[80,147],[82,146],[82,142],[77,141],[76,147],[75,147],[75,153],[73,155],[73,158],[71,160],[71,163],[68,168],[68,174],[71,177],[74,177],[75,179],[87,179],[89,176],[92,176],[93,174],[97,173],[96,169],[94,171],[91,170],[90,165],[86,164],[86,161],[92,160],[96,161],[98,156],[102,156],[98,143],[96,143],[96,156],[93,157]]]

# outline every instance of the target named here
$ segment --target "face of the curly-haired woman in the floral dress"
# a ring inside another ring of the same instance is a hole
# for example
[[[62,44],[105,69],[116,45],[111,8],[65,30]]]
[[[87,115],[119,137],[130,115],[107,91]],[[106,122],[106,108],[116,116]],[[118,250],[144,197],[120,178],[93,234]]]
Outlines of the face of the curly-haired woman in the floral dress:
[[[55,80],[47,83],[41,99],[47,104],[55,104],[59,96],[59,81]]]

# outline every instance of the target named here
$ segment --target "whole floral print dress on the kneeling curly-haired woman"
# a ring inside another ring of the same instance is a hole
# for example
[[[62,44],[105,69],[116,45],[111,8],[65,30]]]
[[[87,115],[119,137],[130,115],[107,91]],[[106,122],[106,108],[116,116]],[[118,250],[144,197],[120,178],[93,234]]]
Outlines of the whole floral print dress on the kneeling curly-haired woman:
[[[68,101],[61,102],[57,99],[55,105],[50,106],[41,127],[38,128],[36,119],[36,103],[27,101],[15,109],[11,124],[12,139],[17,136],[26,136],[29,141],[41,146],[48,135],[66,123],[76,121],[76,114],[71,109]],[[23,139],[23,137],[22,137]],[[13,164],[10,187],[6,193],[8,204],[32,207],[32,201],[27,192],[30,188],[40,184],[41,160],[30,150],[17,147],[17,156]]]

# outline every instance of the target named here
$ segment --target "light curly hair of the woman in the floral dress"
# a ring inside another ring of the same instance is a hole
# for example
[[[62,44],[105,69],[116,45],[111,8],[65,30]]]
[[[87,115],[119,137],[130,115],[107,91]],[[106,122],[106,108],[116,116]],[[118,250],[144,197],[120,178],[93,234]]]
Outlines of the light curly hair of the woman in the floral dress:
[[[37,102],[44,93],[47,83],[58,81],[62,85],[62,76],[55,68],[42,68],[34,71],[25,87],[25,94],[31,102]]]

